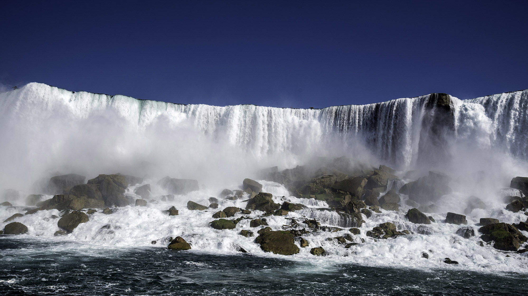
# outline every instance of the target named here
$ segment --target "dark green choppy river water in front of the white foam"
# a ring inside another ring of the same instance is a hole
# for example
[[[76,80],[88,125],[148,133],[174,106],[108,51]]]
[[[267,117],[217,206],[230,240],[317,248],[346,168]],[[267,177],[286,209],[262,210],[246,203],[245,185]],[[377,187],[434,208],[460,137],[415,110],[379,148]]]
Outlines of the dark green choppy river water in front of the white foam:
[[[316,266],[0,237],[1,295],[526,295],[528,275]]]

